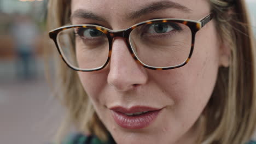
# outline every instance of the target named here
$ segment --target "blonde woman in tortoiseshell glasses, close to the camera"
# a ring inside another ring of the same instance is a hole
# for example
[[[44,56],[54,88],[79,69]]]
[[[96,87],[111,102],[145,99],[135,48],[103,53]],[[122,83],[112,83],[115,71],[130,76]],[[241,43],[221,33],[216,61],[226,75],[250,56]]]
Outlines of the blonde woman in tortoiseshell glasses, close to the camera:
[[[48,12],[68,112],[58,144],[72,125],[65,144],[256,143],[243,0],[51,0]]]

